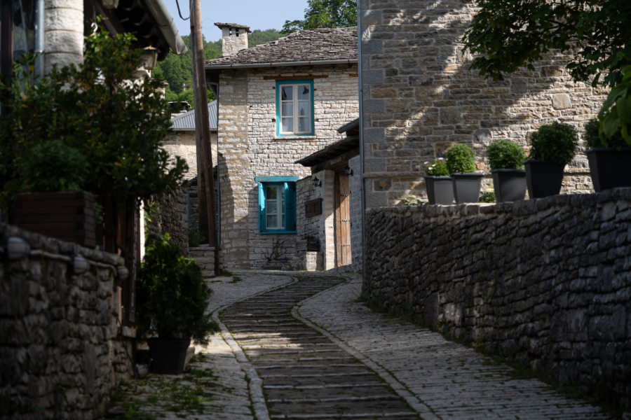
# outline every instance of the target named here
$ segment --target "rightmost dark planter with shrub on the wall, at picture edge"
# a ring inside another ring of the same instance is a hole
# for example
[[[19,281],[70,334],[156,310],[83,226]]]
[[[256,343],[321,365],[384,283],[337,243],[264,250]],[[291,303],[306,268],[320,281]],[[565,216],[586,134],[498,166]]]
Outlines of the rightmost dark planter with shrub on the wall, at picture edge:
[[[620,130],[611,137],[601,138],[600,122],[593,118],[585,124],[585,151],[590,162],[594,190],[599,193],[617,187],[631,187],[631,148]]]

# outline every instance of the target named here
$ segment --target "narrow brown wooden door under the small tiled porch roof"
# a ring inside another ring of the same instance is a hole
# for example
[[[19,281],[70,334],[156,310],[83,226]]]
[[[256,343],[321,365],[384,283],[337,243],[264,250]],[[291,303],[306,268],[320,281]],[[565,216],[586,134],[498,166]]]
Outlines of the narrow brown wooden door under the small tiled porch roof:
[[[335,266],[351,264],[351,190],[344,169],[335,172]]]

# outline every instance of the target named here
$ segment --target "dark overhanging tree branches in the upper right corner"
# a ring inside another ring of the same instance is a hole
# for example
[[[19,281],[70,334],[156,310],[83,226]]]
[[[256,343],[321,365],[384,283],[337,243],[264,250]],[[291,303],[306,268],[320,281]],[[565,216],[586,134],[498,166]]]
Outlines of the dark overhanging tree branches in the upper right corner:
[[[501,80],[548,52],[574,55],[572,78],[613,86],[631,63],[629,0],[479,0],[463,36],[472,69]]]

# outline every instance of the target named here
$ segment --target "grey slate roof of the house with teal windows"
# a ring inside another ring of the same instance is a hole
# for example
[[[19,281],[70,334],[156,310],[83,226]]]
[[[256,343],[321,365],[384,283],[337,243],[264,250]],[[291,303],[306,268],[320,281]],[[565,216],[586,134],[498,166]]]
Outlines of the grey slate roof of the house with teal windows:
[[[357,27],[296,31],[276,41],[240,50],[226,57],[210,59],[205,62],[205,68],[212,70],[229,66],[257,67],[261,64],[318,64],[331,60],[357,62]]]

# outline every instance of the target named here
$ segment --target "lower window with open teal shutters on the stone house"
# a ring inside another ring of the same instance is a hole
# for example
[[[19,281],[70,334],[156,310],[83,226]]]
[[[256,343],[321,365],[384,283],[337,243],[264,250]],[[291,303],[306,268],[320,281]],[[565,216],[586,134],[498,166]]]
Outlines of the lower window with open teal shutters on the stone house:
[[[261,233],[296,233],[297,176],[256,176]]]

